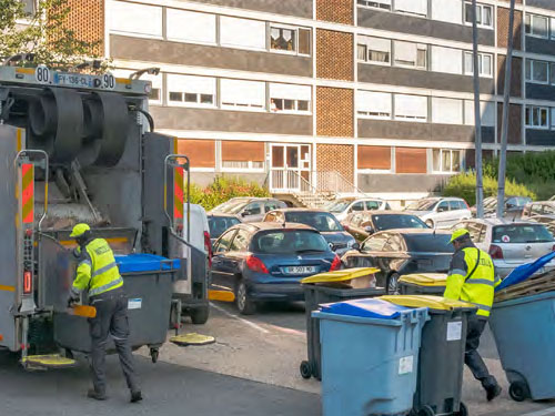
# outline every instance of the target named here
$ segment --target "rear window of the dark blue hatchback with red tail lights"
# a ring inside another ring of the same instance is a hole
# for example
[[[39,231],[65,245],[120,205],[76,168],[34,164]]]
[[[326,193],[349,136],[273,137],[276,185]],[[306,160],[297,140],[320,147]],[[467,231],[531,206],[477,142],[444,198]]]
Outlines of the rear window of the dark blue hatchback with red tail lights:
[[[253,252],[262,254],[299,254],[327,252],[324,237],[310,230],[272,230],[258,233],[253,239]]]

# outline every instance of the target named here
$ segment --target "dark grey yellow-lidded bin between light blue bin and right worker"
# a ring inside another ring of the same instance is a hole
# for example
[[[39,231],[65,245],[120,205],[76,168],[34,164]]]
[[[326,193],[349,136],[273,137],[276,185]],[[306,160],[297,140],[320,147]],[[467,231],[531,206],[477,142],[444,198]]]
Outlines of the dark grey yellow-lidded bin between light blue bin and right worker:
[[[396,305],[428,308],[430,321],[422,331],[413,414],[466,416],[468,412],[461,400],[464,349],[468,316],[476,312],[476,307],[438,296],[400,295],[380,298]]]

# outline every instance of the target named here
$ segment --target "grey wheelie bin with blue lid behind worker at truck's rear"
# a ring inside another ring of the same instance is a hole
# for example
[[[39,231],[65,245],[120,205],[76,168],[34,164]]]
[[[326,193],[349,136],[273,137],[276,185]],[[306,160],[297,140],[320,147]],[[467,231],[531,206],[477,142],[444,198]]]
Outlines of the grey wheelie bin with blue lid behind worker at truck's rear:
[[[152,254],[117,255],[115,262],[123,277],[128,295],[129,342],[133,349],[144,345],[150,348],[152,361],[165,343],[173,282],[180,270],[179,260],[168,260]],[[88,304],[88,300],[83,300]],[[89,323],[79,316],[54,313],[54,341],[69,351],[90,353]],[[114,351],[109,337],[107,351]]]

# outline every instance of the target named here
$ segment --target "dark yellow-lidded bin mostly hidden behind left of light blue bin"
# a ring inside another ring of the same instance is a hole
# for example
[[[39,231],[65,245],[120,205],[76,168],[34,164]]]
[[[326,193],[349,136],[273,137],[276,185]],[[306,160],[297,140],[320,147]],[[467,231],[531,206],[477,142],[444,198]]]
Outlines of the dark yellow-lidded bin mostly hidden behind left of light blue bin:
[[[361,278],[377,272],[379,270],[373,267],[349,268],[321,273],[303,280],[304,307],[306,311],[306,346],[309,355],[309,359],[303,361],[300,366],[301,376],[303,378],[314,377],[316,379],[322,379],[320,369],[320,324],[317,318],[311,316],[312,312],[316,311],[319,305],[323,303],[384,295],[385,290],[381,287],[352,288],[342,285],[342,282]]]

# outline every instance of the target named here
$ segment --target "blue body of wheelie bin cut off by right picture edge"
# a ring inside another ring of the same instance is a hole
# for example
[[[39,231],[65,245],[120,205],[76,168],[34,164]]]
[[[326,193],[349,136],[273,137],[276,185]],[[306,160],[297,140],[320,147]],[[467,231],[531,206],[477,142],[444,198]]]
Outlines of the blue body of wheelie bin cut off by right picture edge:
[[[555,398],[555,292],[494,303],[490,326],[511,397]]]

